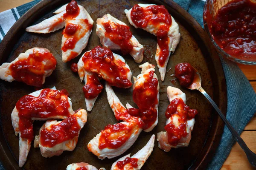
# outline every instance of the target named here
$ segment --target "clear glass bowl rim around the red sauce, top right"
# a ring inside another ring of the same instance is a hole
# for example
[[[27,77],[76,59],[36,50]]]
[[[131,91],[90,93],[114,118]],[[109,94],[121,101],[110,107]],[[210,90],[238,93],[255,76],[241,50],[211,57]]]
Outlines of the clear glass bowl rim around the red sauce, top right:
[[[218,9],[227,4],[232,0],[206,0],[204,4],[204,14],[208,12],[207,17],[213,18],[215,17],[215,14],[217,13]],[[204,29],[206,30],[211,42],[213,43],[214,47],[220,53],[223,57],[226,57],[227,59],[230,59],[233,62],[238,62],[241,64],[246,65],[256,65],[256,60],[252,59],[238,59],[236,57],[231,56],[230,54],[227,54],[222,48],[218,46],[218,44],[213,40],[212,35],[209,32],[207,21],[204,18]]]

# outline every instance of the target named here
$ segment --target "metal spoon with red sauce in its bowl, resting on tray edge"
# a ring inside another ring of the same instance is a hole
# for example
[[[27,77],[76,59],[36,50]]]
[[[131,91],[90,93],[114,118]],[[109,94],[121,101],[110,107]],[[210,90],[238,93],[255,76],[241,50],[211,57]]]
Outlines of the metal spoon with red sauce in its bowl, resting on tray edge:
[[[204,89],[201,86],[202,79],[198,71],[195,68],[193,68],[189,63],[179,63],[175,66],[175,77],[179,80],[181,86],[186,87],[190,90],[198,90],[202,94],[204,94],[204,96],[212,104],[213,108],[215,108],[215,110],[217,111],[221,119],[227,125],[230,132],[234,136],[236,142],[240,145],[240,147],[246,153],[247,159],[250,162],[250,164],[252,164],[253,167],[256,167],[256,154],[253,153],[247,147],[244,140],[239,136],[236,130],[230,125],[230,123],[227,121],[226,117],[218,108],[218,106],[215,104],[215,102],[212,100],[212,98],[207,94],[206,91],[204,91]]]

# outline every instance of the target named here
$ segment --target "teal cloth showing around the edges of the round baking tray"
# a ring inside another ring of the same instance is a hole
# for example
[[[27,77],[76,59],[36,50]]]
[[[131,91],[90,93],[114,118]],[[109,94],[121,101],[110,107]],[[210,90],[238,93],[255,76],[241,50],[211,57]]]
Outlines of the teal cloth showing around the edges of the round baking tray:
[[[17,7],[18,14],[22,16],[32,6],[40,0],[34,0]],[[203,8],[204,1],[202,0],[174,0],[182,8],[189,12],[195,20],[203,27]],[[13,11],[14,13],[14,11]],[[14,14],[15,17],[15,14]],[[15,17],[16,19],[17,17]],[[250,85],[250,82],[244,76],[242,71],[236,65],[224,57],[220,56],[222,67],[227,82],[227,120],[238,131],[239,134],[244,130],[244,127],[253,117],[256,112],[256,94]],[[215,152],[215,156],[208,165],[208,170],[219,170],[227,159],[230,150],[235,143],[235,140],[228,130],[224,127],[224,132],[221,137],[221,142]],[[0,163],[0,170],[5,170]]]

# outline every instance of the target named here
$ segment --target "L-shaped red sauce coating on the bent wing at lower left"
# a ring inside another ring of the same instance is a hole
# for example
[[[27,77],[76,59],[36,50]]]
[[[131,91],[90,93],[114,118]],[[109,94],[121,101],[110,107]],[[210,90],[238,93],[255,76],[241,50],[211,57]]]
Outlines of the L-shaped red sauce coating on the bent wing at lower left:
[[[38,97],[26,95],[17,103],[19,112],[20,137],[33,139],[33,124],[31,117],[49,118],[53,116],[70,116],[67,90],[57,91],[43,89]]]

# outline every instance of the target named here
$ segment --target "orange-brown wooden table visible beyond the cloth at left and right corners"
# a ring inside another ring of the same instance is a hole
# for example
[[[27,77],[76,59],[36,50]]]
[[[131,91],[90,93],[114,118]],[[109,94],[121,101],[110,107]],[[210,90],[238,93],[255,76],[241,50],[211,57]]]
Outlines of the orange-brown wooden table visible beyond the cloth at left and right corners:
[[[28,3],[32,0],[0,0],[0,12],[10,8],[20,6],[24,3]],[[247,79],[256,91],[256,65],[241,65],[238,64],[239,68],[244,72]],[[256,153],[256,116],[248,123],[245,127],[241,138],[247,146]],[[244,151],[241,149],[239,144],[235,144],[224,162],[221,170],[254,170],[254,168],[247,161],[247,157]]]

